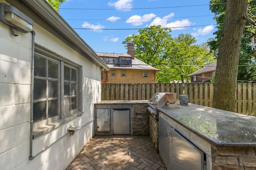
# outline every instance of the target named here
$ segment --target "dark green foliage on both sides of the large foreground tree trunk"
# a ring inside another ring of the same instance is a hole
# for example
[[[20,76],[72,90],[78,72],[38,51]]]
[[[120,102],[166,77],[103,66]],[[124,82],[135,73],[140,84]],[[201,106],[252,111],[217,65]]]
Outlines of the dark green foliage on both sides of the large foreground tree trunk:
[[[220,34],[222,31],[224,18],[226,14],[226,4],[218,4],[218,3],[225,3],[226,0],[210,0],[210,10],[215,14],[214,19],[216,20],[218,26],[216,28],[218,29],[216,32],[214,32],[214,35],[216,37],[214,39],[209,39],[207,41],[208,45],[210,46],[210,50],[214,54],[214,57],[218,56],[218,48],[219,48],[219,39]],[[250,18],[253,21],[256,21],[256,1],[248,0],[248,18]],[[240,54],[239,54],[239,63],[238,65],[252,65],[252,60],[248,59],[254,59],[253,53],[255,51],[252,51],[251,49],[251,35],[256,33],[256,27],[248,22],[246,22],[242,41],[241,41],[241,47],[240,47]],[[238,76],[237,80],[246,80],[246,81],[255,81],[255,75],[252,70],[254,70],[255,66],[239,66],[238,67]],[[250,70],[250,71],[249,71]]]

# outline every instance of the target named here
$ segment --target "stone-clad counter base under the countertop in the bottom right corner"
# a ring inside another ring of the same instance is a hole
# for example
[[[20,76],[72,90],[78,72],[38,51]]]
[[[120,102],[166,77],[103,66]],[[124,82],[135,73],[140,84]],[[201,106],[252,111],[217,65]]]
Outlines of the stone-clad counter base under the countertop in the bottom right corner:
[[[255,147],[212,147],[213,170],[256,170]]]

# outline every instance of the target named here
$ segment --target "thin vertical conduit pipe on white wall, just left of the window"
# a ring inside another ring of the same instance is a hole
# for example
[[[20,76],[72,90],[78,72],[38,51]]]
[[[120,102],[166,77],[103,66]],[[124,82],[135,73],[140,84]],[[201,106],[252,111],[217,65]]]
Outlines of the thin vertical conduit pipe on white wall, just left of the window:
[[[34,159],[33,157],[33,100],[34,100],[34,56],[35,56],[35,31],[32,33],[32,61],[31,61],[31,88],[30,88],[30,154],[29,159]]]

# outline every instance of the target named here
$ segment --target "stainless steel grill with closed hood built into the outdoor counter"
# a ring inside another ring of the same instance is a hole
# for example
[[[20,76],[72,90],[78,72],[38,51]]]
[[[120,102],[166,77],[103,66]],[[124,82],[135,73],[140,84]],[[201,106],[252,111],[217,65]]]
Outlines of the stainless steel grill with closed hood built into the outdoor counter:
[[[153,117],[158,118],[157,108],[179,108],[180,101],[176,98],[176,93],[158,92],[148,101],[148,111]]]

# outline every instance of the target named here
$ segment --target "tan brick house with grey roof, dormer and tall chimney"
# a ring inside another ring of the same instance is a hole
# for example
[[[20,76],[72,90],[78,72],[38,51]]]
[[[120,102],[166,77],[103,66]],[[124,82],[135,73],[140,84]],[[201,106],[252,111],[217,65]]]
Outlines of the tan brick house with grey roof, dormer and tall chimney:
[[[109,66],[101,72],[102,83],[156,83],[154,68],[134,57],[134,44],[128,43],[128,54],[96,53]]]

